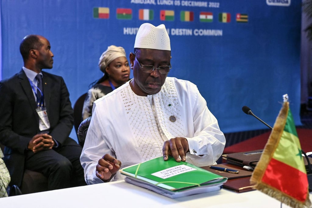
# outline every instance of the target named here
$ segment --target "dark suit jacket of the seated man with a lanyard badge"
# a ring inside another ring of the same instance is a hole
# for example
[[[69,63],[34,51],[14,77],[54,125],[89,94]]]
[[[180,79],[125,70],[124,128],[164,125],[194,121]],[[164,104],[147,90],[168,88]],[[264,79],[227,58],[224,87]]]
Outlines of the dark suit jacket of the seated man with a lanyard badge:
[[[42,72],[45,106],[50,121],[50,135],[60,145],[77,145],[69,138],[73,127],[73,109],[62,77]],[[0,82],[0,143],[5,145],[4,161],[11,183],[20,186],[25,152],[39,132],[39,116],[32,87],[23,70]]]

